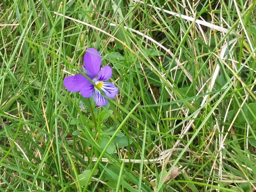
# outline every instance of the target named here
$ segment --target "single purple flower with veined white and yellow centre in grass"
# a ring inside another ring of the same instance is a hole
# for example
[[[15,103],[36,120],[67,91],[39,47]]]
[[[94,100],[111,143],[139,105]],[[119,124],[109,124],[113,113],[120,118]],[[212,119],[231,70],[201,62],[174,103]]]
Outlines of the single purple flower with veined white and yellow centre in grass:
[[[94,86],[82,74],[66,77],[63,81],[64,86],[69,91],[80,91],[83,97],[94,95],[94,100],[98,106],[106,105],[108,100],[101,94],[99,89],[110,99],[116,97],[118,93],[118,88],[113,83],[104,82],[111,78],[112,68],[105,66],[99,70],[101,67],[101,54],[93,48],[87,49],[83,62],[87,76],[97,86]]]

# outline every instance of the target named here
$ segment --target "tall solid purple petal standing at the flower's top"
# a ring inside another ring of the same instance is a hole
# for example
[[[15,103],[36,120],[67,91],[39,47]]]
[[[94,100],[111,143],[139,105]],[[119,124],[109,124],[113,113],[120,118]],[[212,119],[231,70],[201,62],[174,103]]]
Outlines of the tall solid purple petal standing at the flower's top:
[[[101,67],[101,54],[96,49],[89,48],[86,50],[83,63],[88,74],[92,78],[95,78],[99,73],[99,68]]]

